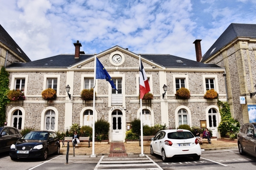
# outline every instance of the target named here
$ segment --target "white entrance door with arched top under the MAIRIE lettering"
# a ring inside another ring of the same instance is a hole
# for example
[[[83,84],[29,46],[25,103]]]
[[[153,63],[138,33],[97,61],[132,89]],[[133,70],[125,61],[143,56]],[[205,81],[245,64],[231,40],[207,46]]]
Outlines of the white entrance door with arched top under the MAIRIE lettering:
[[[112,141],[122,141],[122,112],[120,110],[114,110],[112,113]]]

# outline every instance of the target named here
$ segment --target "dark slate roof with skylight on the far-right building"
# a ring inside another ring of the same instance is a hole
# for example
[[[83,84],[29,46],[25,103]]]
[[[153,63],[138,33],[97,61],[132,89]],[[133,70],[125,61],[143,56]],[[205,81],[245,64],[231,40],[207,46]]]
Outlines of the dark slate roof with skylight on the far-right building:
[[[208,51],[203,55],[201,62],[214,55],[216,52],[218,52],[218,50],[229,44],[236,37],[256,38],[256,24],[231,23],[228,28],[221,34],[221,36],[214,42],[214,44],[208,49]],[[212,52],[213,49],[214,51]]]

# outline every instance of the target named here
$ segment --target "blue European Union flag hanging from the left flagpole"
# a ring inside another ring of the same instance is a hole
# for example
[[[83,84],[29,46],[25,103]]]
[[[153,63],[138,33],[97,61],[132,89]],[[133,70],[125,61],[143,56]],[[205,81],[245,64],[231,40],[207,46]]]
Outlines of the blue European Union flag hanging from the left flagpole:
[[[101,62],[97,57],[96,57],[96,79],[106,79],[106,81],[110,83],[111,87],[117,91],[112,78],[110,77],[107,70],[103,67],[103,65],[101,64]]]

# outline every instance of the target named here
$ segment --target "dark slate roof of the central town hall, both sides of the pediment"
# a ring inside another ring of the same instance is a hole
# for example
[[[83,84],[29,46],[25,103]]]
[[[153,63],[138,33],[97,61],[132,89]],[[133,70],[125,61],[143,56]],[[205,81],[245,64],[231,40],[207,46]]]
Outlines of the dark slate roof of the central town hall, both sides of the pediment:
[[[74,54],[60,54],[27,63],[12,63],[7,68],[68,68],[92,56],[94,54],[80,54],[80,58],[75,59]],[[216,64],[205,64],[170,54],[141,54],[141,56],[166,68],[220,68]]]

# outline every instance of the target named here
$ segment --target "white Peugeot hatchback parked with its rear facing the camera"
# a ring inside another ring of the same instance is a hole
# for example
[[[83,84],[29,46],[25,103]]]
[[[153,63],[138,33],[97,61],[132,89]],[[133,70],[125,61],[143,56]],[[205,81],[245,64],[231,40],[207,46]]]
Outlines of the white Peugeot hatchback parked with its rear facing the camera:
[[[169,129],[161,130],[151,138],[150,154],[160,155],[163,162],[167,162],[168,158],[181,156],[197,161],[202,153],[197,138],[189,130]]]

